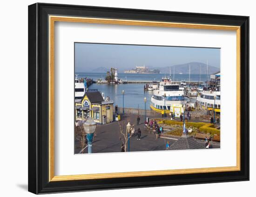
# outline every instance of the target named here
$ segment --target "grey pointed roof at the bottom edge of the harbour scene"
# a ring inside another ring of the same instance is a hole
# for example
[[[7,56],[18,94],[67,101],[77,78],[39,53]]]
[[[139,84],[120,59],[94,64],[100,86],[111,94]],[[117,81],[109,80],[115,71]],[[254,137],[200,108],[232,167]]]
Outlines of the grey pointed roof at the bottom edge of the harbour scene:
[[[199,143],[195,138],[187,136],[181,137],[179,140],[175,141],[170,147],[169,150],[185,150],[185,149],[204,149],[205,146],[202,143]]]

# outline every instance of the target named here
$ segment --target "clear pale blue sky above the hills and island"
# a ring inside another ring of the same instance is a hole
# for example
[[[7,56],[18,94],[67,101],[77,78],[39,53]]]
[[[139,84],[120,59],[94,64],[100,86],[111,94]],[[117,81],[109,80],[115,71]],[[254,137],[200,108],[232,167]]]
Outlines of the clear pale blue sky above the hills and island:
[[[206,64],[207,60],[209,65],[220,68],[220,49],[75,43],[76,72],[98,67],[128,69],[143,64],[149,67],[167,67],[189,62]]]

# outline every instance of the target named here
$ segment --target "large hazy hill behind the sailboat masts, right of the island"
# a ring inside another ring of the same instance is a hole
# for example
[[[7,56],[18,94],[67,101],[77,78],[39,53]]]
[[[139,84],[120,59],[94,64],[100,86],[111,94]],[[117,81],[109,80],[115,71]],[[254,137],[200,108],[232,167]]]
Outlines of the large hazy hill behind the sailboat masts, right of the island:
[[[178,64],[171,66],[171,73],[173,74],[174,68],[175,68],[175,73],[182,73],[182,74],[189,74],[189,64],[190,64],[190,74],[199,74],[200,66],[201,66],[201,74],[207,74],[207,64],[199,63],[199,62],[190,62],[187,64]],[[160,69],[161,73],[169,73],[169,66],[168,67],[162,67],[158,68]],[[208,64],[209,68],[209,74],[216,73],[220,71],[219,68],[216,68],[214,66],[210,66]]]

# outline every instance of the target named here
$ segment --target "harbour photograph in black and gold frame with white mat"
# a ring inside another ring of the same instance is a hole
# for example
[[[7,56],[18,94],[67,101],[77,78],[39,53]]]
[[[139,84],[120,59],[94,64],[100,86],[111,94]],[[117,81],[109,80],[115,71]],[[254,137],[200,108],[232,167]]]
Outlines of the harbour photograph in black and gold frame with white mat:
[[[28,191],[249,180],[249,17],[28,6]]]

